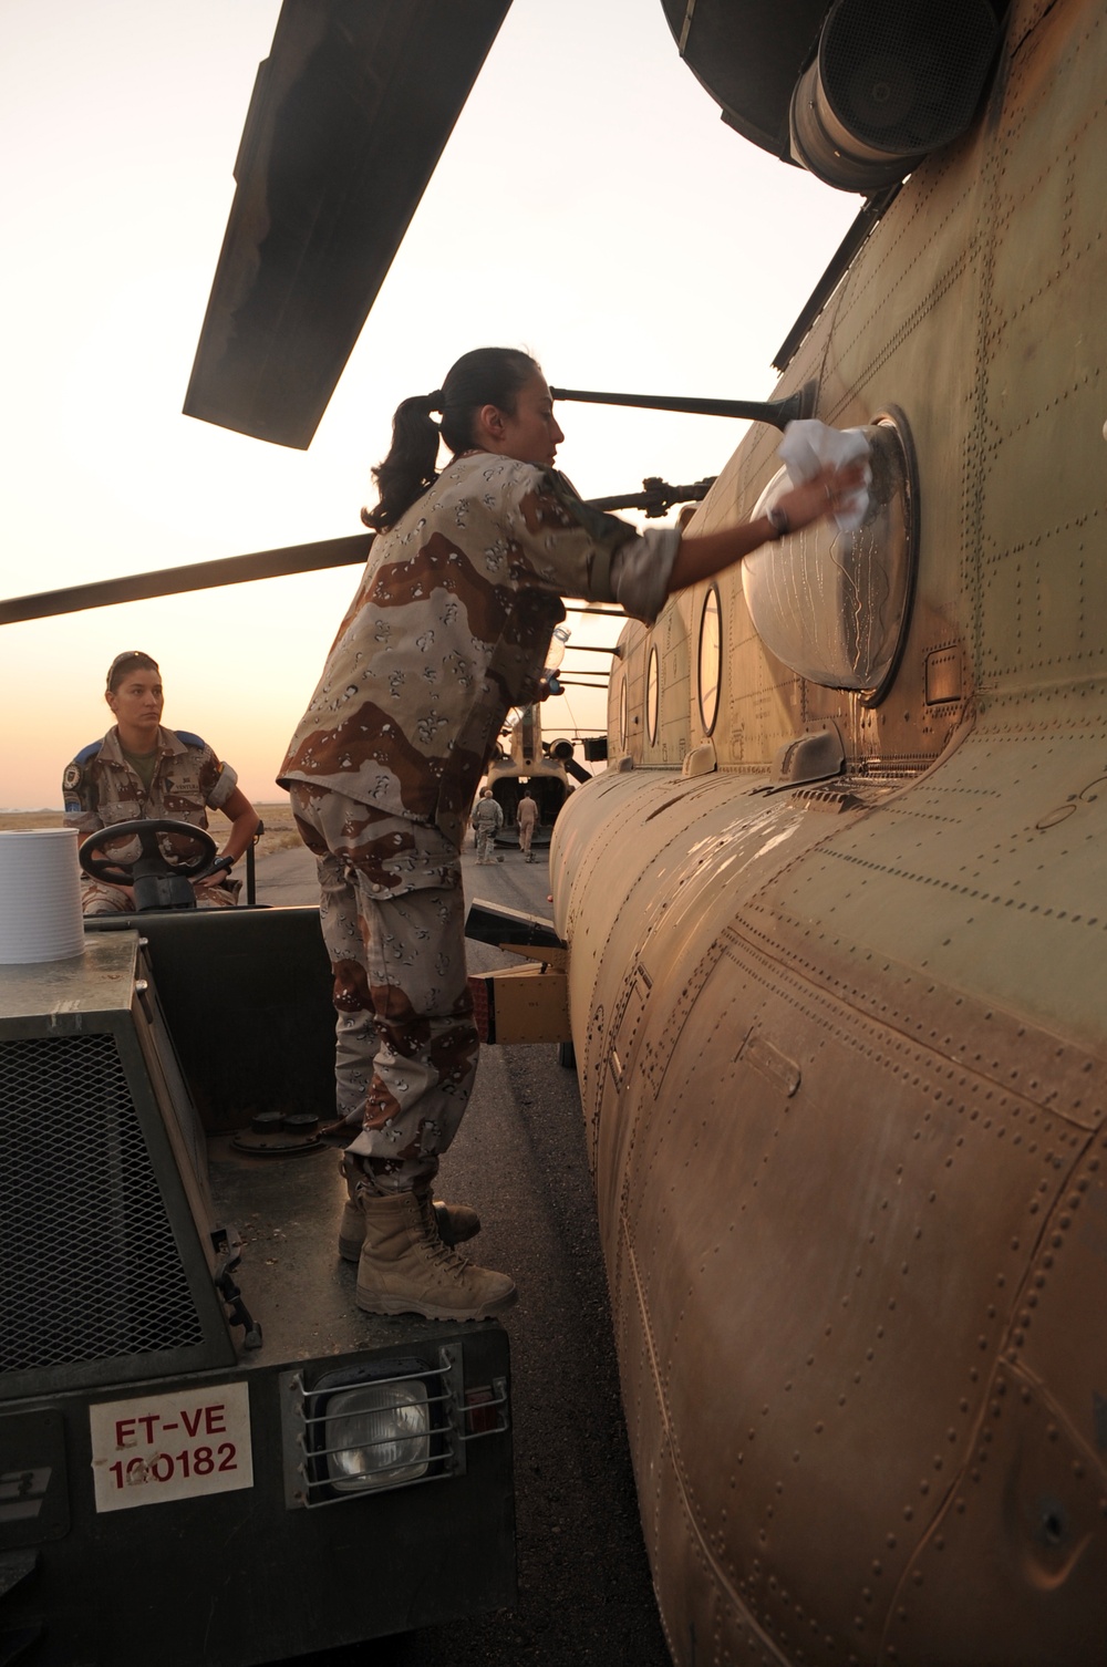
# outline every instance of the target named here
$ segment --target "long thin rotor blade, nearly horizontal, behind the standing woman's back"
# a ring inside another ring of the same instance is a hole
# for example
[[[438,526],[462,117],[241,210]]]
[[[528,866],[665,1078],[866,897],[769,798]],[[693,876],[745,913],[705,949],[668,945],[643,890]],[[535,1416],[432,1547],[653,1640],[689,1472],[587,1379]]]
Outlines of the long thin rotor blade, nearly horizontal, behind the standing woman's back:
[[[230,555],[218,562],[163,567],[153,573],[125,573],[122,578],[103,578],[90,585],[68,585],[65,590],[10,597],[0,602],[0,625],[45,618],[52,613],[77,613],[82,608],[110,608],[118,602],[173,597],[183,590],[208,590],[213,585],[243,585],[252,578],[277,578],[282,573],[315,573],[327,567],[347,567],[353,562],[363,562],[372,542],[372,533],[357,532],[348,538],[290,543],[283,550],[257,550],[253,555]]]

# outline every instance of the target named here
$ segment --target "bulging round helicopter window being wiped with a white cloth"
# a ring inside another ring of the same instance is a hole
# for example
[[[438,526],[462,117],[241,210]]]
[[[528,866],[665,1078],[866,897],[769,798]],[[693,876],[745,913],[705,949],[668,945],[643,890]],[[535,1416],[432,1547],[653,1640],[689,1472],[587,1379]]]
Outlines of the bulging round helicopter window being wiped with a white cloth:
[[[880,415],[865,433],[865,523],[842,533],[820,522],[755,550],[742,563],[742,590],[757,635],[779,660],[812,683],[854,688],[875,705],[892,685],[907,632],[919,490],[902,412]],[[752,518],[789,487],[785,470],[774,475]]]

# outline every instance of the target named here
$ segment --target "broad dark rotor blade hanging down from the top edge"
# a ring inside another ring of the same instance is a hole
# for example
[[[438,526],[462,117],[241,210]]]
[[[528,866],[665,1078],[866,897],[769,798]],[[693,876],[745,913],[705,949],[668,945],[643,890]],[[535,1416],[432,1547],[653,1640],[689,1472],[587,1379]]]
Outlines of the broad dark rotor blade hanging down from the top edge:
[[[510,0],[283,0],[185,413],[307,448]]]

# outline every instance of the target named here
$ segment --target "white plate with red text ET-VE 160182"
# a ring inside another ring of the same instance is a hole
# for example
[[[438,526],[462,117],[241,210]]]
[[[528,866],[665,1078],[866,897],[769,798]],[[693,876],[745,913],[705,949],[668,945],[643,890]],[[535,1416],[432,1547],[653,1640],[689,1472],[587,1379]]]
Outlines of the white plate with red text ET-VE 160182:
[[[247,1384],[105,1400],[88,1422],[97,1510],[253,1487]]]

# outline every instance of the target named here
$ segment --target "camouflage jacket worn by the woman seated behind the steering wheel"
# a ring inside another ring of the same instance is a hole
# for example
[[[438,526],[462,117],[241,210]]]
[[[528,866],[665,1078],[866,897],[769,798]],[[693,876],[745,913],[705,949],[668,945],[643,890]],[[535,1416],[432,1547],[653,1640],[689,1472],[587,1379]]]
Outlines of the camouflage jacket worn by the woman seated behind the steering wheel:
[[[227,803],[238,777],[207,742],[187,730],[158,728],[160,757],[150,792],[123,758],[118,728],[83,747],[62,777],[65,827],[83,837],[115,822],[170,817],[207,827],[207,807]]]

